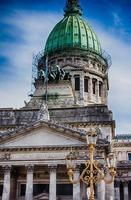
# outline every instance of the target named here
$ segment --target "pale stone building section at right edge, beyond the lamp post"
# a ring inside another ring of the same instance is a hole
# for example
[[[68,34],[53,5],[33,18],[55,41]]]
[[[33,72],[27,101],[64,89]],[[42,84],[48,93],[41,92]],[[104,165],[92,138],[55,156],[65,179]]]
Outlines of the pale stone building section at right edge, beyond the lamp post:
[[[114,153],[117,156],[115,200],[131,199],[131,135],[115,137]]]

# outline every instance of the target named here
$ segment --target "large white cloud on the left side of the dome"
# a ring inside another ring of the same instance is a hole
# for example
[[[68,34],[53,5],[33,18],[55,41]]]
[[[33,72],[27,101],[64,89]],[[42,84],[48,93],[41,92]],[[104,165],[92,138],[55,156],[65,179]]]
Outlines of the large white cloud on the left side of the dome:
[[[0,107],[22,107],[31,88],[32,56],[44,49],[46,38],[60,16],[51,13],[13,11],[2,23],[10,26],[16,41],[3,41],[0,56],[8,61],[1,65]],[[6,70],[5,70],[6,69]],[[10,99],[10,100],[9,100]]]

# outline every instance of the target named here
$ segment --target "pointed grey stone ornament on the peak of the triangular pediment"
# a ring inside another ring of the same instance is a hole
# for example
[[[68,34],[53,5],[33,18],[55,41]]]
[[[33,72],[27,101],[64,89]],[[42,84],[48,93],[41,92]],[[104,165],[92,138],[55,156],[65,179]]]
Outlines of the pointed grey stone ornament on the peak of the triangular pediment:
[[[50,120],[50,116],[49,116],[49,111],[48,111],[48,107],[46,104],[42,104],[39,112],[38,112],[38,117],[37,117],[38,120],[41,120],[41,121],[48,121]]]

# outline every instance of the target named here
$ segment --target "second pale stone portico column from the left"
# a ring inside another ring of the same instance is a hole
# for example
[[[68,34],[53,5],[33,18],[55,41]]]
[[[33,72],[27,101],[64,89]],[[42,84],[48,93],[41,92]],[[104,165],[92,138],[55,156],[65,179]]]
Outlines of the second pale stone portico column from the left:
[[[27,166],[25,200],[33,200],[33,169],[32,165]]]

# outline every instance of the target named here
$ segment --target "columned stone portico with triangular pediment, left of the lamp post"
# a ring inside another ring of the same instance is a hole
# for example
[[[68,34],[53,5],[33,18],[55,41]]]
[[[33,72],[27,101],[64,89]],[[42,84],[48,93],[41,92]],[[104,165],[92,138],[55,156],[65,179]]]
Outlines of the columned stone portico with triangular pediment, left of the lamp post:
[[[87,199],[85,185],[69,182],[65,161],[71,146],[79,151],[79,168],[75,171],[75,177],[78,178],[87,156],[84,130],[83,134],[80,133],[75,129],[74,134],[74,129],[69,126],[43,121],[12,133],[12,137],[7,134],[0,147],[1,199]],[[33,146],[28,142],[30,137]],[[104,144],[100,145],[99,151],[104,152],[104,149]]]

